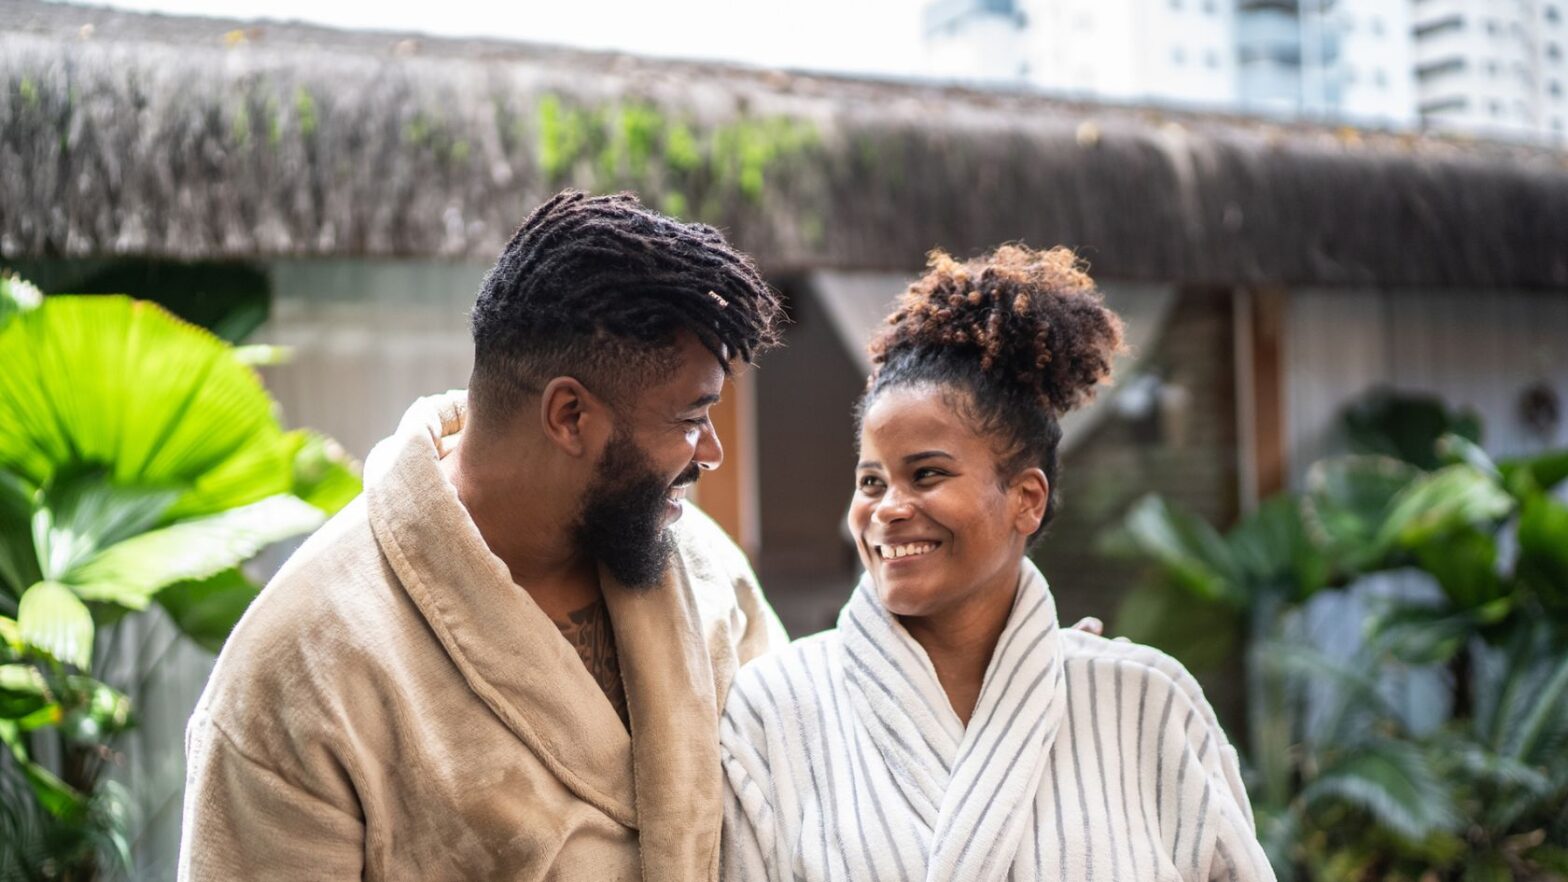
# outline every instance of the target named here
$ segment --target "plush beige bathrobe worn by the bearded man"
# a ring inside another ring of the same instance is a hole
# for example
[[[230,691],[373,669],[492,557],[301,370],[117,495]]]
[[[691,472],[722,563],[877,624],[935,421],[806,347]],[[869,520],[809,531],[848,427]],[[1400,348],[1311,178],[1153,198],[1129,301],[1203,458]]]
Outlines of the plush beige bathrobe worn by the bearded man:
[[[187,731],[182,880],[717,874],[718,713],[781,645],[695,508],[665,584],[601,581],[629,736],[437,466],[463,395],[417,402],[365,493],[245,614]]]

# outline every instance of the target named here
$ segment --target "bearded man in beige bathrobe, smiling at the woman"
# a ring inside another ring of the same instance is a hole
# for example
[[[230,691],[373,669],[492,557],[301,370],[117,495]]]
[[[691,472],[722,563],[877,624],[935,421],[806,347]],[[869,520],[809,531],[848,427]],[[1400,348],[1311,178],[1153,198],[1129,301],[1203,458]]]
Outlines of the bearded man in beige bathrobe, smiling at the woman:
[[[717,720],[782,642],[681,497],[779,303],[701,224],[566,191],[474,309],[474,375],[268,584],[187,734],[180,879],[698,880]]]

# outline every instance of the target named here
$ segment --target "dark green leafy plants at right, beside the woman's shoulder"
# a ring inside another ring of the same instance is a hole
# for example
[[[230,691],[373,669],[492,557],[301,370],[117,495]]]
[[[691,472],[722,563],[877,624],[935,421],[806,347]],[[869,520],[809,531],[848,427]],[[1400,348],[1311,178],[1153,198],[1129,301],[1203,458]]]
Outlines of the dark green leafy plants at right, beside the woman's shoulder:
[[[1348,416],[1381,452],[1316,463],[1223,535],[1140,501],[1107,543],[1154,563],[1124,623],[1189,661],[1173,631],[1236,625],[1281,879],[1562,879],[1568,450],[1494,463],[1479,427],[1435,439],[1468,425],[1430,400],[1380,394]],[[1400,450],[1427,468],[1385,455]]]

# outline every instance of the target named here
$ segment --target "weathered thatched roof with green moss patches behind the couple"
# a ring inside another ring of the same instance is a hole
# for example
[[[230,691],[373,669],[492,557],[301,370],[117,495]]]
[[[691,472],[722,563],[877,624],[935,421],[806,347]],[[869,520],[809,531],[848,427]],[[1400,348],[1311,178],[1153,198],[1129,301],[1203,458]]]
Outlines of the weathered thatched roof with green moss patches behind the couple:
[[[1560,152],[506,42],[0,0],[0,256],[491,261],[561,185],[771,272],[1568,287]]]

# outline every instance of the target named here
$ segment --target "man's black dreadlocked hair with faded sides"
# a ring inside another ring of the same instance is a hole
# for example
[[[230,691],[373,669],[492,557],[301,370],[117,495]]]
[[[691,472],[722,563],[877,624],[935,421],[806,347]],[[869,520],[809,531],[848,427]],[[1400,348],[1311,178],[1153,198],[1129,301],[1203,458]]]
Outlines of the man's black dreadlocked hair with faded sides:
[[[621,403],[674,369],[679,330],[724,370],[778,344],[778,295],[713,228],[630,193],[564,190],[506,243],[474,304],[475,406],[502,413],[555,377]]]

